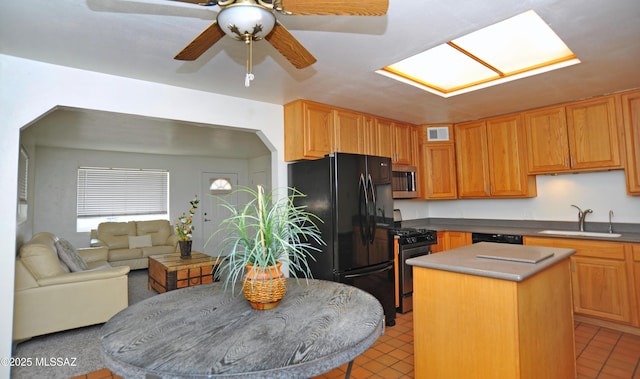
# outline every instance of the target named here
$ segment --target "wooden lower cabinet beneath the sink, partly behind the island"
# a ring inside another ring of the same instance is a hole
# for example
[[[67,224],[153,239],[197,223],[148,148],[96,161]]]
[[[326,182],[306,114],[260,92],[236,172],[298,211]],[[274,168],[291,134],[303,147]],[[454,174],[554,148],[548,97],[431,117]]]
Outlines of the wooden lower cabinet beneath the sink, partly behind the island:
[[[631,283],[631,254],[625,244],[594,240],[525,237],[525,245],[576,250],[571,257],[573,309],[576,314],[624,324],[637,320]],[[631,245],[629,245],[631,246]]]

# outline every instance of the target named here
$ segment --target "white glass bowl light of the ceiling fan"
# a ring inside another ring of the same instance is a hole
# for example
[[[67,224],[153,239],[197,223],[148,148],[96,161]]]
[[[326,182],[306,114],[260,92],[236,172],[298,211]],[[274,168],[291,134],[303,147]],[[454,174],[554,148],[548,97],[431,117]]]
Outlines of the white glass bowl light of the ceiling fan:
[[[217,21],[229,37],[257,41],[271,33],[276,16],[271,10],[254,2],[238,2],[220,10]]]

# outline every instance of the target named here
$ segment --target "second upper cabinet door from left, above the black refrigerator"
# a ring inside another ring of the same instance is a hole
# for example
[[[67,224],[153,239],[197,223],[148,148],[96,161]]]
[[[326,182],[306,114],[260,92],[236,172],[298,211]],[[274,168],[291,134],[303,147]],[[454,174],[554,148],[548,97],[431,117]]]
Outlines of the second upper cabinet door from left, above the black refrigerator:
[[[364,153],[364,117],[361,113],[334,110],[334,147],[340,153]]]

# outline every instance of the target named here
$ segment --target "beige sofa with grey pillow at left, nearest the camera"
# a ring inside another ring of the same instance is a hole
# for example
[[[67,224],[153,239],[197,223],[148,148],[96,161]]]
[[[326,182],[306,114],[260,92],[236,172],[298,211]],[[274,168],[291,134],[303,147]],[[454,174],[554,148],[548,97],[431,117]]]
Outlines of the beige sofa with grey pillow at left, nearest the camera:
[[[111,267],[105,248],[72,249],[73,265],[84,268],[73,272],[58,256],[60,246],[70,246],[61,241],[51,233],[38,233],[20,248],[13,313],[16,342],[100,324],[128,305],[129,267]]]

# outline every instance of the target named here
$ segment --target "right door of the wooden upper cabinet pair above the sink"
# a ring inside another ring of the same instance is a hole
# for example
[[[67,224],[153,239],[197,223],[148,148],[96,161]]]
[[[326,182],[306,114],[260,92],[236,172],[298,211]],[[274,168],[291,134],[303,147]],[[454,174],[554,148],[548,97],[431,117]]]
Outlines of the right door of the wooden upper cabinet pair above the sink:
[[[573,169],[622,168],[613,96],[567,105]]]

